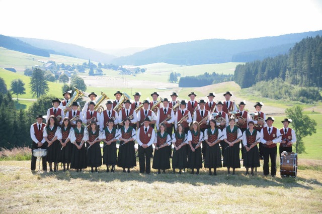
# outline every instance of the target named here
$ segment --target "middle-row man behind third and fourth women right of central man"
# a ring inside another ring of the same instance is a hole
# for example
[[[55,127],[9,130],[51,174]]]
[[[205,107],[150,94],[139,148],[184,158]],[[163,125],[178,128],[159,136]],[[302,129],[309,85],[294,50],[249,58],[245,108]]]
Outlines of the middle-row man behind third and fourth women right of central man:
[[[200,125],[200,131],[204,133],[204,131],[208,128],[208,123],[210,120],[210,114],[205,110],[206,102],[203,99],[200,99],[199,102],[199,110],[195,111],[193,115],[193,121],[197,121]],[[202,141],[202,157],[205,159],[206,156],[206,145],[205,141]]]

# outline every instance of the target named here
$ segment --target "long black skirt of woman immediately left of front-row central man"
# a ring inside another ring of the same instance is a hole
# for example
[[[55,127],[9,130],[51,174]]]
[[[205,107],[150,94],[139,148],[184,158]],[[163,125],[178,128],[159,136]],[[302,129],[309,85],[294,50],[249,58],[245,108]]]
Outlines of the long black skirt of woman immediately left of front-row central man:
[[[136,166],[134,141],[130,141],[123,145],[120,142],[119,154],[117,156],[117,166],[123,168],[132,168]]]

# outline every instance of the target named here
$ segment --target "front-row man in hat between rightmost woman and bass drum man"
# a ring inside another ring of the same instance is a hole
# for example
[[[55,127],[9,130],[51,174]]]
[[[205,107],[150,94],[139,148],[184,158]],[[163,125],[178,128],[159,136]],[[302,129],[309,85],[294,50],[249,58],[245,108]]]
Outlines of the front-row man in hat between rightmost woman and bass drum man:
[[[261,143],[263,144],[263,155],[264,155],[264,165],[263,171],[264,175],[269,174],[269,158],[271,158],[271,175],[275,177],[276,175],[276,144],[281,142],[280,130],[273,127],[274,118],[268,117],[265,120],[267,127],[261,130]]]

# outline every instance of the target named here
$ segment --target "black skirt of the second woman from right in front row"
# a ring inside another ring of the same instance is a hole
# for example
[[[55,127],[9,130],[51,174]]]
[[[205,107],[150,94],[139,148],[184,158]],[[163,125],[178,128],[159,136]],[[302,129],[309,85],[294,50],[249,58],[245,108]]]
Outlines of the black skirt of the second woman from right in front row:
[[[223,149],[223,167],[240,168],[239,143]]]

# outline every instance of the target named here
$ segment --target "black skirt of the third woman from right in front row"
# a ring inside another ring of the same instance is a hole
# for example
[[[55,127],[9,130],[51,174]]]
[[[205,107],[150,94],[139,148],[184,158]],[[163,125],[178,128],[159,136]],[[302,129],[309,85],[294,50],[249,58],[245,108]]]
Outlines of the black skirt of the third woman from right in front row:
[[[219,143],[210,147],[207,144],[205,168],[220,168],[221,167],[221,152]]]

